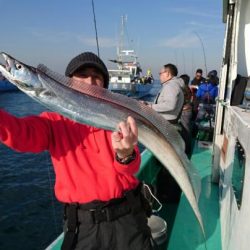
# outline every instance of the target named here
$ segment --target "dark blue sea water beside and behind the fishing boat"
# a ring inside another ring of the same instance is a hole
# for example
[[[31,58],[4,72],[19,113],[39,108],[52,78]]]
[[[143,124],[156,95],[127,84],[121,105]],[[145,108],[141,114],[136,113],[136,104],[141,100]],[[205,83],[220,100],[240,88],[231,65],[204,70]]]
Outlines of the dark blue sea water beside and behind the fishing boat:
[[[159,87],[155,82],[144,99],[153,100]],[[0,108],[18,117],[46,110],[19,91],[0,93]],[[18,153],[0,143],[0,249],[45,249],[62,232],[62,219],[49,154]]]

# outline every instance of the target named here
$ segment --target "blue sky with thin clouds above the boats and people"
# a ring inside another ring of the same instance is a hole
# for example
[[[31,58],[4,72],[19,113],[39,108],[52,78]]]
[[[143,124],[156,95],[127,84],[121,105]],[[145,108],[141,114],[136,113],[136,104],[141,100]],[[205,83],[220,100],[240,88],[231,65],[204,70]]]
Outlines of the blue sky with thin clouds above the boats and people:
[[[143,74],[167,63],[179,75],[220,71],[225,24],[218,0],[94,0],[100,57],[116,68],[121,17],[127,16],[125,46],[138,55]],[[0,51],[64,73],[79,53],[97,54],[92,0],[0,0]],[[1,60],[0,60],[1,62]]]

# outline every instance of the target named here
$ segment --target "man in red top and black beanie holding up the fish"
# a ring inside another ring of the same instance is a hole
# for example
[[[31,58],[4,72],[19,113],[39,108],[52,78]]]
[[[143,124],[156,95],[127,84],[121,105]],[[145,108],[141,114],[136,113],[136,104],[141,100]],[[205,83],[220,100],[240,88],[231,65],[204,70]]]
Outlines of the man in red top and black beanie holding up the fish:
[[[65,75],[108,88],[107,68],[91,52],[74,57]],[[147,226],[151,211],[134,176],[141,161],[137,126],[132,117],[117,126],[119,132],[112,132],[55,112],[17,118],[0,109],[2,143],[51,155],[55,195],[65,211],[63,250],[153,249]]]

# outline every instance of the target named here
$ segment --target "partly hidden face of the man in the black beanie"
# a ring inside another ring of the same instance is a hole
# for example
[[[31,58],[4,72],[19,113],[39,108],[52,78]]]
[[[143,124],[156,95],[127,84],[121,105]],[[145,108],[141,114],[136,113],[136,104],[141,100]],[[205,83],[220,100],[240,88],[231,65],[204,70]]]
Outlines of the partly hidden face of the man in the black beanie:
[[[96,85],[104,87],[103,75],[96,68],[84,68],[77,71],[72,76],[73,80],[77,80],[83,84]]]

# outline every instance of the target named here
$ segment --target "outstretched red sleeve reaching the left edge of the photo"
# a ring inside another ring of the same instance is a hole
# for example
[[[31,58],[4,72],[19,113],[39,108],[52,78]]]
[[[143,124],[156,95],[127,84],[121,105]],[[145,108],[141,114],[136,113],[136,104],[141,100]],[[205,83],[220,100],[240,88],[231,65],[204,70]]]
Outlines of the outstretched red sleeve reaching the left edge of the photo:
[[[48,149],[50,126],[42,116],[17,118],[0,110],[0,141],[20,152],[38,153]]]

